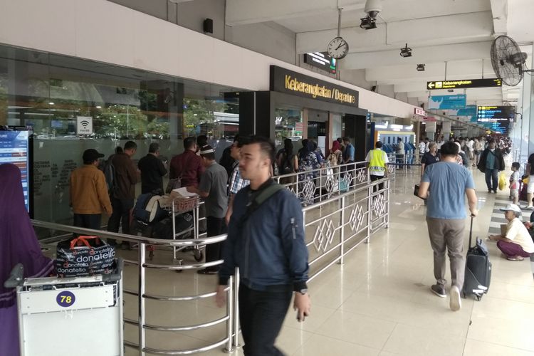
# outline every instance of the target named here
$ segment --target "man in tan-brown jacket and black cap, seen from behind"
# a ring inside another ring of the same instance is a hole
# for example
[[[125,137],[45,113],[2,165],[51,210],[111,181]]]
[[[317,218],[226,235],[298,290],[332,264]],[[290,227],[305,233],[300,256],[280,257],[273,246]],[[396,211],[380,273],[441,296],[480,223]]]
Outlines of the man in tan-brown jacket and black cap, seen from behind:
[[[112,213],[105,177],[98,169],[98,158],[104,157],[92,148],[83,152],[83,167],[70,174],[70,206],[74,211],[74,226],[100,229],[103,211]]]

